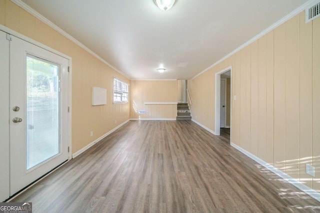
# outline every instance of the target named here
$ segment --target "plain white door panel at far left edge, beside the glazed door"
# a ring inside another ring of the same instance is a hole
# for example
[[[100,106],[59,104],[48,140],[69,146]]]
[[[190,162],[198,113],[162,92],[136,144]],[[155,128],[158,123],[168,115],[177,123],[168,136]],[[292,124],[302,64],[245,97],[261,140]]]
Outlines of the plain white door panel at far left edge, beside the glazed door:
[[[9,197],[9,41],[0,31],[0,202]]]

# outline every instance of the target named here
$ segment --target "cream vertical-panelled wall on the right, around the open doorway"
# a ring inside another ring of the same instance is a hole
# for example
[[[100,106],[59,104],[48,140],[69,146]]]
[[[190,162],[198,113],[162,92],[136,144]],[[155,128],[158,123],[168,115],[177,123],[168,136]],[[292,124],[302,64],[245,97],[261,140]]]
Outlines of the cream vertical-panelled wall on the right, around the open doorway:
[[[320,192],[319,58],[320,18],[303,11],[189,80],[192,119],[214,130],[214,76],[232,66],[232,143]]]

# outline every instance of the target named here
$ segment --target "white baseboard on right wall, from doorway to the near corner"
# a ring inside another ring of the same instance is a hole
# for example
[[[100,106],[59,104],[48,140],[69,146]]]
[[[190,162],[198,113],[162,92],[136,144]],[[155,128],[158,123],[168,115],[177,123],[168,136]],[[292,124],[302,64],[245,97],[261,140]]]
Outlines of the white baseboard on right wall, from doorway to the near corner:
[[[241,147],[237,146],[236,144],[230,143],[230,145],[232,147],[234,147],[235,149],[237,149],[238,151],[242,152],[244,155],[246,155],[249,158],[251,158],[252,160],[254,160],[257,163],[261,164],[263,167],[265,167],[266,169],[270,170],[274,174],[276,174],[279,177],[283,178],[285,181],[287,181],[288,183],[292,184],[293,186],[295,186],[296,188],[298,188],[302,192],[308,194],[309,196],[311,196],[312,198],[314,198],[315,200],[320,202],[320,193],[310,189],[309,187],[305,186],[304,184],[302,184],[298,180],[290,177],[289,175],[287,175],[284,172],[278,170],[277,168],[273,167],[272,165],[270,165],[270,164],[266,163],[265,161],[259,159],[255,155],[252,155],[251,153],[249,153],[248,151],[242,149]]]

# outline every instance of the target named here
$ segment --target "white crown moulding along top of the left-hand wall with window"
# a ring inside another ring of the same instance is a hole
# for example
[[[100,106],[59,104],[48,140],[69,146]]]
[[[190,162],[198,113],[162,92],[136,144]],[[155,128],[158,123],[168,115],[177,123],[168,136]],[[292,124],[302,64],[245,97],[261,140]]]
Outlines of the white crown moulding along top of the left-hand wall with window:
[[[60,34],[62,34],[64,37],[66,37],[69,40],[71,40],[73,43],[75,43],[76,45],[78,45],[79,47],[81,47],[82,49],[84,49],[85,51],[87,51],[88,53],[93,55],[94,57],[96,57],[98,60],[100,60],[101,62],[103,62],[107,66],[111,67],[112,69],[114,69],[115,71],[117,71],[118,73],[123,75],[124,77],[130,79],[130,77],[127,74],[125,74],[124,72],[121,72],[118,69],[116,69],[115,67],[113,67],[111,64],[109,64],[107,61],[105,61],[103,58],[101,58],[99,55],[97,55],[91,49],[86,47],[84,44],[82,44],[80,41],[76,40],[74,37],[72,37],[71,35],[69,35],[65,31],[63,31],[60,27],[58,27],[57,25],[55,25],[54,23],[49,21],[47,18],[45,18],[43,15],[41,15],[40,13],[38,13],[37,11],[32,9],[30,6],[28,6],[27,4],[25,4],[21,0],[11,0],[11,1],[13,3],[15,3],[16,5],[18,5],[19,7],[21,7],[22,9],[24,9],[25,11],[29,12],[34,17],[38,18],[39,20],[41,20],[42,22],[47,24],[48,26],[50,26],[51,28],[53,28],[54,30],[56,30],[57,32],[59,32]]]

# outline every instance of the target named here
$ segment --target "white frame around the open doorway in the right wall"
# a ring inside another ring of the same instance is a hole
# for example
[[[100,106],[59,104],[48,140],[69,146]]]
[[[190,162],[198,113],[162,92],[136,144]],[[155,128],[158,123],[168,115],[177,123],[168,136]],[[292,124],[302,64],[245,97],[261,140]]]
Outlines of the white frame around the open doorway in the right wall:
[[[215,135],[220,135],[220,80],[221,74],[230,71],[230,143],[231,143],[231,130],[232,130],[232,66],[229,66],[217,73],[215,73]]]

